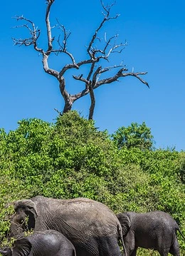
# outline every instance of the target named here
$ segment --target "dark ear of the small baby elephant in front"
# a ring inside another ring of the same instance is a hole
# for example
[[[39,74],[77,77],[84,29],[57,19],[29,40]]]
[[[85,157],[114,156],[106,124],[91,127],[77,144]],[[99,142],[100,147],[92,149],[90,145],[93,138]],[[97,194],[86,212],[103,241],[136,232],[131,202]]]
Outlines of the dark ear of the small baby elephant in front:
[[[16,240],[14,242],[13,253],[14,256],[28,256],[31,251],[31,242],[26,237]]]

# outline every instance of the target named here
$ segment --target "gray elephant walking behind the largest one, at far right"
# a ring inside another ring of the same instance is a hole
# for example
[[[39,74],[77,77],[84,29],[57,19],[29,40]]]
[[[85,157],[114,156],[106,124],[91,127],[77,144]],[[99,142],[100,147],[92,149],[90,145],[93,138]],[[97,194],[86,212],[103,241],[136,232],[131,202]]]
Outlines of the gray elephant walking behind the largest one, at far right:
[[[127,256],[136,256],[137,247],[157,250],[161,256],[180,256],[176,238],[179,226],[168,213],[127,212],[117,214],[117,218],[122,225]]]

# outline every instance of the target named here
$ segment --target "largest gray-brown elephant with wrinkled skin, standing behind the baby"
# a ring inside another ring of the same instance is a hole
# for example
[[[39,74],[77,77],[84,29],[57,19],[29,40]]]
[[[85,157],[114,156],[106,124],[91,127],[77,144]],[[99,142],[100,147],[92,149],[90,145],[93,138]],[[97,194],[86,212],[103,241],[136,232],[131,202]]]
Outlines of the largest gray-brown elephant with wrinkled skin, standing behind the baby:
[[[119,239],[125,252],[120,222],[103,203],[88,198],[61,200],[37,195],[17,200],[14,210],[10,228],[14,237],[24,230],[52,229],[65,235],[80,256],[120,256]]]

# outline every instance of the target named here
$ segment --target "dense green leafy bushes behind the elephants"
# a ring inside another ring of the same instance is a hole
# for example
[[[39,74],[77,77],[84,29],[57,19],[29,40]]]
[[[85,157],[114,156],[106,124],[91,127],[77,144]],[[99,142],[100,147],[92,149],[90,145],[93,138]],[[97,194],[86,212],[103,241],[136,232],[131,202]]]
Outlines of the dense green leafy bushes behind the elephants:
[[[0,239],[9,230],[12,202],[34,195],[92,198],[115,213],[164,210],[185,233],[185,152],[154,149],[152,138],[145,123],[110,136],[75,111],[56,123],[33,118],[9,133],[1,129]],[[185,255],[180,236],[179,242]]]

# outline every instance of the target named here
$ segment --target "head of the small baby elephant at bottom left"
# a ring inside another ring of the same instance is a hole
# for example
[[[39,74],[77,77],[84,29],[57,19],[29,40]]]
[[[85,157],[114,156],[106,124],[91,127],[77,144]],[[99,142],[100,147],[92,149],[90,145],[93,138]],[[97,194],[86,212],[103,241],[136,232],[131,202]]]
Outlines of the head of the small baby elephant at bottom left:
[[[0,253],[4,256],[27,256],[30,255],[30,252],[31,242],[29,242],[26,238],[16,240],[12,249],[6,248],[4,250],[0,250]]]

